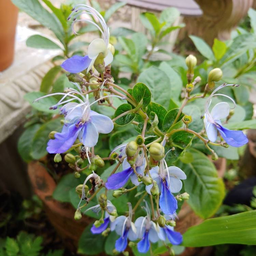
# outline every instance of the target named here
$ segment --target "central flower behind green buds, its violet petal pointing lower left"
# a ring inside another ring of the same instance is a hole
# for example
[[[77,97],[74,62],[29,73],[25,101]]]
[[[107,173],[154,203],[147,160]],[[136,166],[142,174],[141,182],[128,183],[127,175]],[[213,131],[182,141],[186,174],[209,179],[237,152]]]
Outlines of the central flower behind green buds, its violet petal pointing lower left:
[[[138,174],[143,174],[145,170],[145,163],[146,159],[144,155],[137,158],[137,161],[135,163],[135,169]],[[123,171],[114,173],[109,176],[107,182],[105,183],[105,186],[107,189],[118,189],[120,187],[123,187],[129,180],[129,178],[131,179],[132,184],[134,184],[135,186],[138,186],[140,184],[137,175],[133,171],[133,168],[127,162],[127,158],[125,158],[123,160]]]

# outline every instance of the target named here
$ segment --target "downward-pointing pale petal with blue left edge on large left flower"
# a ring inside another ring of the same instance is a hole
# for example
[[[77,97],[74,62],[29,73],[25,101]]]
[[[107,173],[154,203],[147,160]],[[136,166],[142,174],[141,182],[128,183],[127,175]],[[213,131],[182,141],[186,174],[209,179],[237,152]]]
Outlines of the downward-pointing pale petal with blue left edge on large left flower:
[[[80,139],[80,141],[84,144],[84,146],[94,147],[97,144],[99,133],[93,123],[88,122],[86,127],[84,127],[81,132],[82,140]]]

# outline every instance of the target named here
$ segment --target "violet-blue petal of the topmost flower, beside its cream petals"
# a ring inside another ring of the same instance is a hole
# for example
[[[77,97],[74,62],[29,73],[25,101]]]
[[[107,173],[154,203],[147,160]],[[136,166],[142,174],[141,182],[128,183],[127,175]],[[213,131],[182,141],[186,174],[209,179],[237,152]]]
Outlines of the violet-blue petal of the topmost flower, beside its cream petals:
[[[89,64],[91,62],[91,59],[88,57],[88,55],[79,56],[74,55],[71,58],[65,60],[60,67],[65,69],[66,71],[70,73],[79,73],[86,68],[88,68]]]

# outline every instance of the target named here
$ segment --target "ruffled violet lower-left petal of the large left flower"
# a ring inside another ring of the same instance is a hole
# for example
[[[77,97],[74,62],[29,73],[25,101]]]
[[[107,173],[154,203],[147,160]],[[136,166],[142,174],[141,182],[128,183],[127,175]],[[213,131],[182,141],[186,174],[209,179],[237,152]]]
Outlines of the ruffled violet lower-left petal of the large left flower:
[[[62,132],[55,133],[54,140],[49,140],[46,150],[49,153],[64,153],[66,152],[75,142],[78,133],[83,126],[77,127],[76,123],[68,126],[68,130],[62,129]]]

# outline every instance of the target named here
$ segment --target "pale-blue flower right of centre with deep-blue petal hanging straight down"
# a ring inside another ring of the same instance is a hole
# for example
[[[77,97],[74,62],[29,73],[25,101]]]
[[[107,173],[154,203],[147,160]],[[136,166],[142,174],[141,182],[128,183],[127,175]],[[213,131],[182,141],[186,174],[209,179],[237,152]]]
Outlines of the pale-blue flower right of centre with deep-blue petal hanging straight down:
[[[177,200],[172,193],[178,193],[182,188],[181,180],[187,178],[186,174],[176,166],[165,168],[165,160],[160,161],[160,168],[154,167],[150,170],[152,179],[156,181],[159,191],[159,206],[163,213],[167,215],[174,214],[177,210]],[[166,165],[167,166],[167,165]],[[150,189],[153,184],[146,186],[146,191],[151,194]]]

